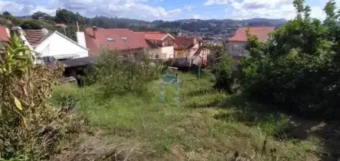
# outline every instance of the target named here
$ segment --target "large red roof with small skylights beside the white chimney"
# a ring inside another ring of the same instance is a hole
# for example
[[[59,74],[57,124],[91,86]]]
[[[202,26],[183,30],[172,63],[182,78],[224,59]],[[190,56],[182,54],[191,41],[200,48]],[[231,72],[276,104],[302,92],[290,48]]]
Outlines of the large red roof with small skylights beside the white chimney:
[[[85,29],[86,47],[89,48],[90,55],[96,55],[101,48],[110,50],[140,50],[145,48],[145,40],[132,34],[128,28],[98,28],[94,37],[92,28]],[[140,34],[142,35],[142,34]],[[107,38],[113,38],[108,41]],[[126,40],[123,40],[126,38]]]

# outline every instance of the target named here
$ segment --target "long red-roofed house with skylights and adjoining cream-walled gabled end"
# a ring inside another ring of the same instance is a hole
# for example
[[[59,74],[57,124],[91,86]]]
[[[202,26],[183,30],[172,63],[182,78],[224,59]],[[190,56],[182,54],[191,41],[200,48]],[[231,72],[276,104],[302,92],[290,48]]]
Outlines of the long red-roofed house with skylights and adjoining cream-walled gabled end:
[[[120,55],[134,57],[147,50],[152,58],[174,57],[174,37],[169,33],[132,32],[128,28],[86,28],[86,47],[96,56],[102,49],[118,50]]]

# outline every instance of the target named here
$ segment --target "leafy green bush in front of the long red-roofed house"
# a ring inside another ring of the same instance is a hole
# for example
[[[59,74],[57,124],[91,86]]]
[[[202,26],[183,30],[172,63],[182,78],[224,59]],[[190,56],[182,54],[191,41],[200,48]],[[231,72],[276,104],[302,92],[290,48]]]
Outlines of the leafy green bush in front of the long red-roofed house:
[[[159,79],[162,70],[159,65],[151,65],[144,52],[134,59],[128,59],[118,57],[116,51],[102,50],[90,77],[101,84],[101,90],[106,95],[112,96],[125,92],[147,91],[147,83]]]

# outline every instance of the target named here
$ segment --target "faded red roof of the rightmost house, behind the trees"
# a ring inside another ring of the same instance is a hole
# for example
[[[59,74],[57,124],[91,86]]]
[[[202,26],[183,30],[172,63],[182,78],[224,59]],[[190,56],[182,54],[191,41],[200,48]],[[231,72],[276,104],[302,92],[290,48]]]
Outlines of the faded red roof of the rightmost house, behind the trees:
[[[238,41],[238,42],[246,42],[246,29],[248,27],[241,27],[236,31],[236,34],[229,38],[228,41]],[[249,31],[251,35],[256,35],[259,38],[260,42],[265,42],[268,38],[268,34],[271,33],[275,27],[273,26],[261,26],[261,27],[249,27]]]

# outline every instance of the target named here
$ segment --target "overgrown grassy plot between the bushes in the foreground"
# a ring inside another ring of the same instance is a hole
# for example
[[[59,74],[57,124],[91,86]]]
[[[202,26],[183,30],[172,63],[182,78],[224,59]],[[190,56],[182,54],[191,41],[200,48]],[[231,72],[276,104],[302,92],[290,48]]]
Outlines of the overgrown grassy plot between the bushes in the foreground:
[[[165,88],[165,103],[160,102],[160,80],[149,84],[145,94],[113,98],[104,98],[96,85],[56,87],[51,102],[59,104],[63,96],[79,99],[77,114],[92,129],[74,140],[63,159],[81,160],[90,153],[97,160],[113,155],[117,160],[318,159],[319,139],[285,135],[288,116],[215,91],[209,74],[198,80],[180,73],[179,79],[179,103],[171,85]]]

